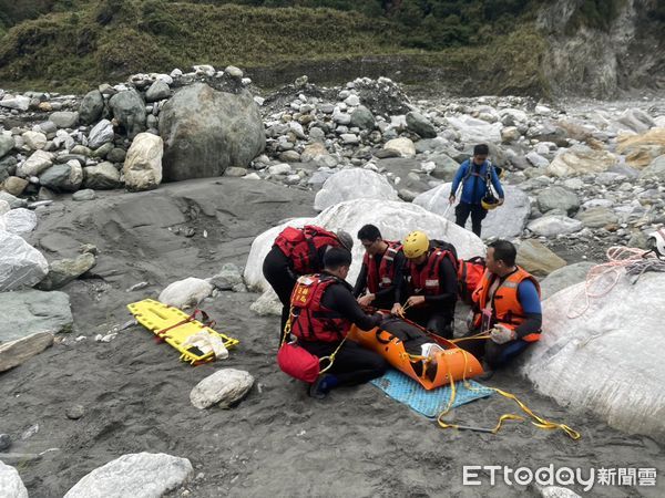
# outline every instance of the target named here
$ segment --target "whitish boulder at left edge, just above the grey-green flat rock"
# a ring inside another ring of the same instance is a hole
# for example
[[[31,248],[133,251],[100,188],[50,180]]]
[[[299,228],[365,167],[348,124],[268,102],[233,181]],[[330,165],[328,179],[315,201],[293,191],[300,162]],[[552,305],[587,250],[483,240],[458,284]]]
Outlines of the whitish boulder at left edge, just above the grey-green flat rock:
[[[20,236],[0,231],[0,292],[32,287],[48,272],[49,263],[40,251]]]

